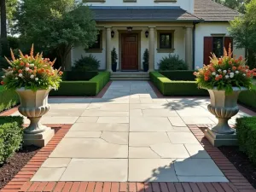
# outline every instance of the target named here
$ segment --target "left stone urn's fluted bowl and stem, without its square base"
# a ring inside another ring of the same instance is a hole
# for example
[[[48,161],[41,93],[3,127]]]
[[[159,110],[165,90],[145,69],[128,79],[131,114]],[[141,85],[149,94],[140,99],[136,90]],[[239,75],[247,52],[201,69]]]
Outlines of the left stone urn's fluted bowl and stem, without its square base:
[[[26,90],[17,89],[20,96],[19,112],[30,119],[30,125],[25,129],[26,134],[38,134],[46,131],[47,126],[40,123],[42,116],[49,111],[49,90]]]

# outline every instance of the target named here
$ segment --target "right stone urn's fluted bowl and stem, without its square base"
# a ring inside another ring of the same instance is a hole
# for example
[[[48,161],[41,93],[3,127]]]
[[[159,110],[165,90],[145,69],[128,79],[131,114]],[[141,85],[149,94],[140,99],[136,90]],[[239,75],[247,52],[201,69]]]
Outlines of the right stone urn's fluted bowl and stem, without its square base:
[[[229,119],[239,112],[237,105],[238,96],[245,87],[233,87],[232,93],[226,94],[225,90],[208,90],[211,97],[211,104],[208,110],[218,119],[218,125],[212,131],[218,134],[233,134],[235,132],[228,123]]]

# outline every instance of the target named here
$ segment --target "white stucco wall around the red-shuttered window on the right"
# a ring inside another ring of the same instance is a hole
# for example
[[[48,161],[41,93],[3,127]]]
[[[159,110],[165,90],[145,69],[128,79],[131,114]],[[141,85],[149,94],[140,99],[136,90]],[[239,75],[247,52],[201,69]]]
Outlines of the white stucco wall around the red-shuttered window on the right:
[[[211,37],[212,34],[225,34],[229,36],[228,22],[218,23],[200,23],[195,26],[195,67],[203,66],[204,53],[204,37]],[[234,46],[234,55],[245,55],[245,49],[236,49]]]

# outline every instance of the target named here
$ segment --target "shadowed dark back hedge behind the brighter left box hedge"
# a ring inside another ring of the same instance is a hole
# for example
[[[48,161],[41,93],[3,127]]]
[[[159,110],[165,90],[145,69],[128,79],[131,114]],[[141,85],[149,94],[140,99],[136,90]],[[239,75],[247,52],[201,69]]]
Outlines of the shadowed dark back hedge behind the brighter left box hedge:
[[[89,81],[94,78],[98,72],[79,72],[79,71],[67,71],[64,73],[63,81]]]

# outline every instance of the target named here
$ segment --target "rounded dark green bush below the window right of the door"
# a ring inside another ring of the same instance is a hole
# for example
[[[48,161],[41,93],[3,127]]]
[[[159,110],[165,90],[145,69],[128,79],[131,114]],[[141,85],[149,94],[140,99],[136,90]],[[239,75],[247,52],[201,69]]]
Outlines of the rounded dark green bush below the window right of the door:
[[[168,70],[187,70],[188,65],[182,59],[179,59],[178,55],[164,56],[158,63],[160,71]]]

